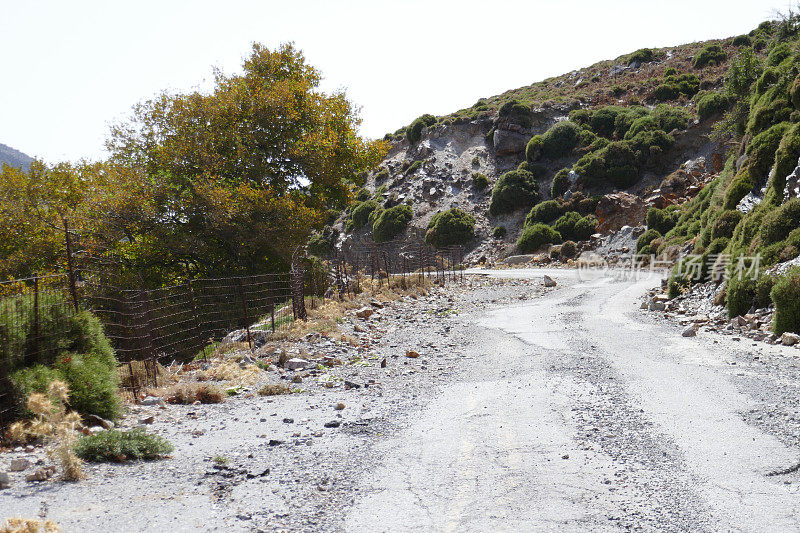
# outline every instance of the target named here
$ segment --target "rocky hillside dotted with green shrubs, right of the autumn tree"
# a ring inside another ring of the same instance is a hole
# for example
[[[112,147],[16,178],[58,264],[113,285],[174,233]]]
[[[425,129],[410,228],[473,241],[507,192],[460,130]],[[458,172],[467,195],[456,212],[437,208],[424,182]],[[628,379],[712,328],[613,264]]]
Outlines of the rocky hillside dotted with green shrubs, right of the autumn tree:
[[[425,236],[493,263],[571,261],[600,244],[607,257],[678,261],[673,298],[717,273],[716,303],[732,317],[789,305],[800,286],[797,271],[782,277],[800,253],[797,33],[796,16],[767,21],[423,115],[386,136],[387,157],[313,248]],[[624,226],[634,230],[617,238]],[[689,261],[703,263],[696,279]],[[750,267],[752,279],[719,286],[720,272]],[[779,310],[777,333],[800,329],[796,311]]]

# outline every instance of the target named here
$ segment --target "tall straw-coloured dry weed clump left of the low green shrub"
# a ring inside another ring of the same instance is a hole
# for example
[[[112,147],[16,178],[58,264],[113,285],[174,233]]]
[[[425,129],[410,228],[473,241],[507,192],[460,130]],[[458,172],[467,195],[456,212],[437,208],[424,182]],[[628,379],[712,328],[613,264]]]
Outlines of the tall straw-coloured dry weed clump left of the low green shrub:
[[[83,462],[73,449],[78,439],[81,416],[75,411],[67,411],[68,398],[69,387],[66,383],[59,380],[50,382],[47,394],[35,392],[28,396],[27,407],[35,418],[16,422],[9,433],[14,440],[33,438],[52,445],[48,454],[61,464],[61,478],[64,481],[77,481],[84,477]]]

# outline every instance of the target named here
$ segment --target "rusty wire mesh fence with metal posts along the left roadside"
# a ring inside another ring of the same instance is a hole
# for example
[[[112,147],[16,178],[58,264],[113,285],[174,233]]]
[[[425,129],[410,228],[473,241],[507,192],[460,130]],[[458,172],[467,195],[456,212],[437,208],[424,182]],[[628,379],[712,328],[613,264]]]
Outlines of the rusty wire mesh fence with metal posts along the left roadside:
[[[52,367],[85,349],[81,328],[96,316],[120,362],[124,390],[137,397],[158,383],[160,363],[210,356],[226,337],[258,348],[304,320],[306,307],[361,292],[370,278],[391,288],[411,276],[463,280],[459,247],[399,242],[358,244],[324,262],[295,258],[288,272],[194,279],[157,289],[119,287],[89,270],[0,283],[0,426],[19,404],[11,375]],[[231,337],[233,335],[233,337]]]

